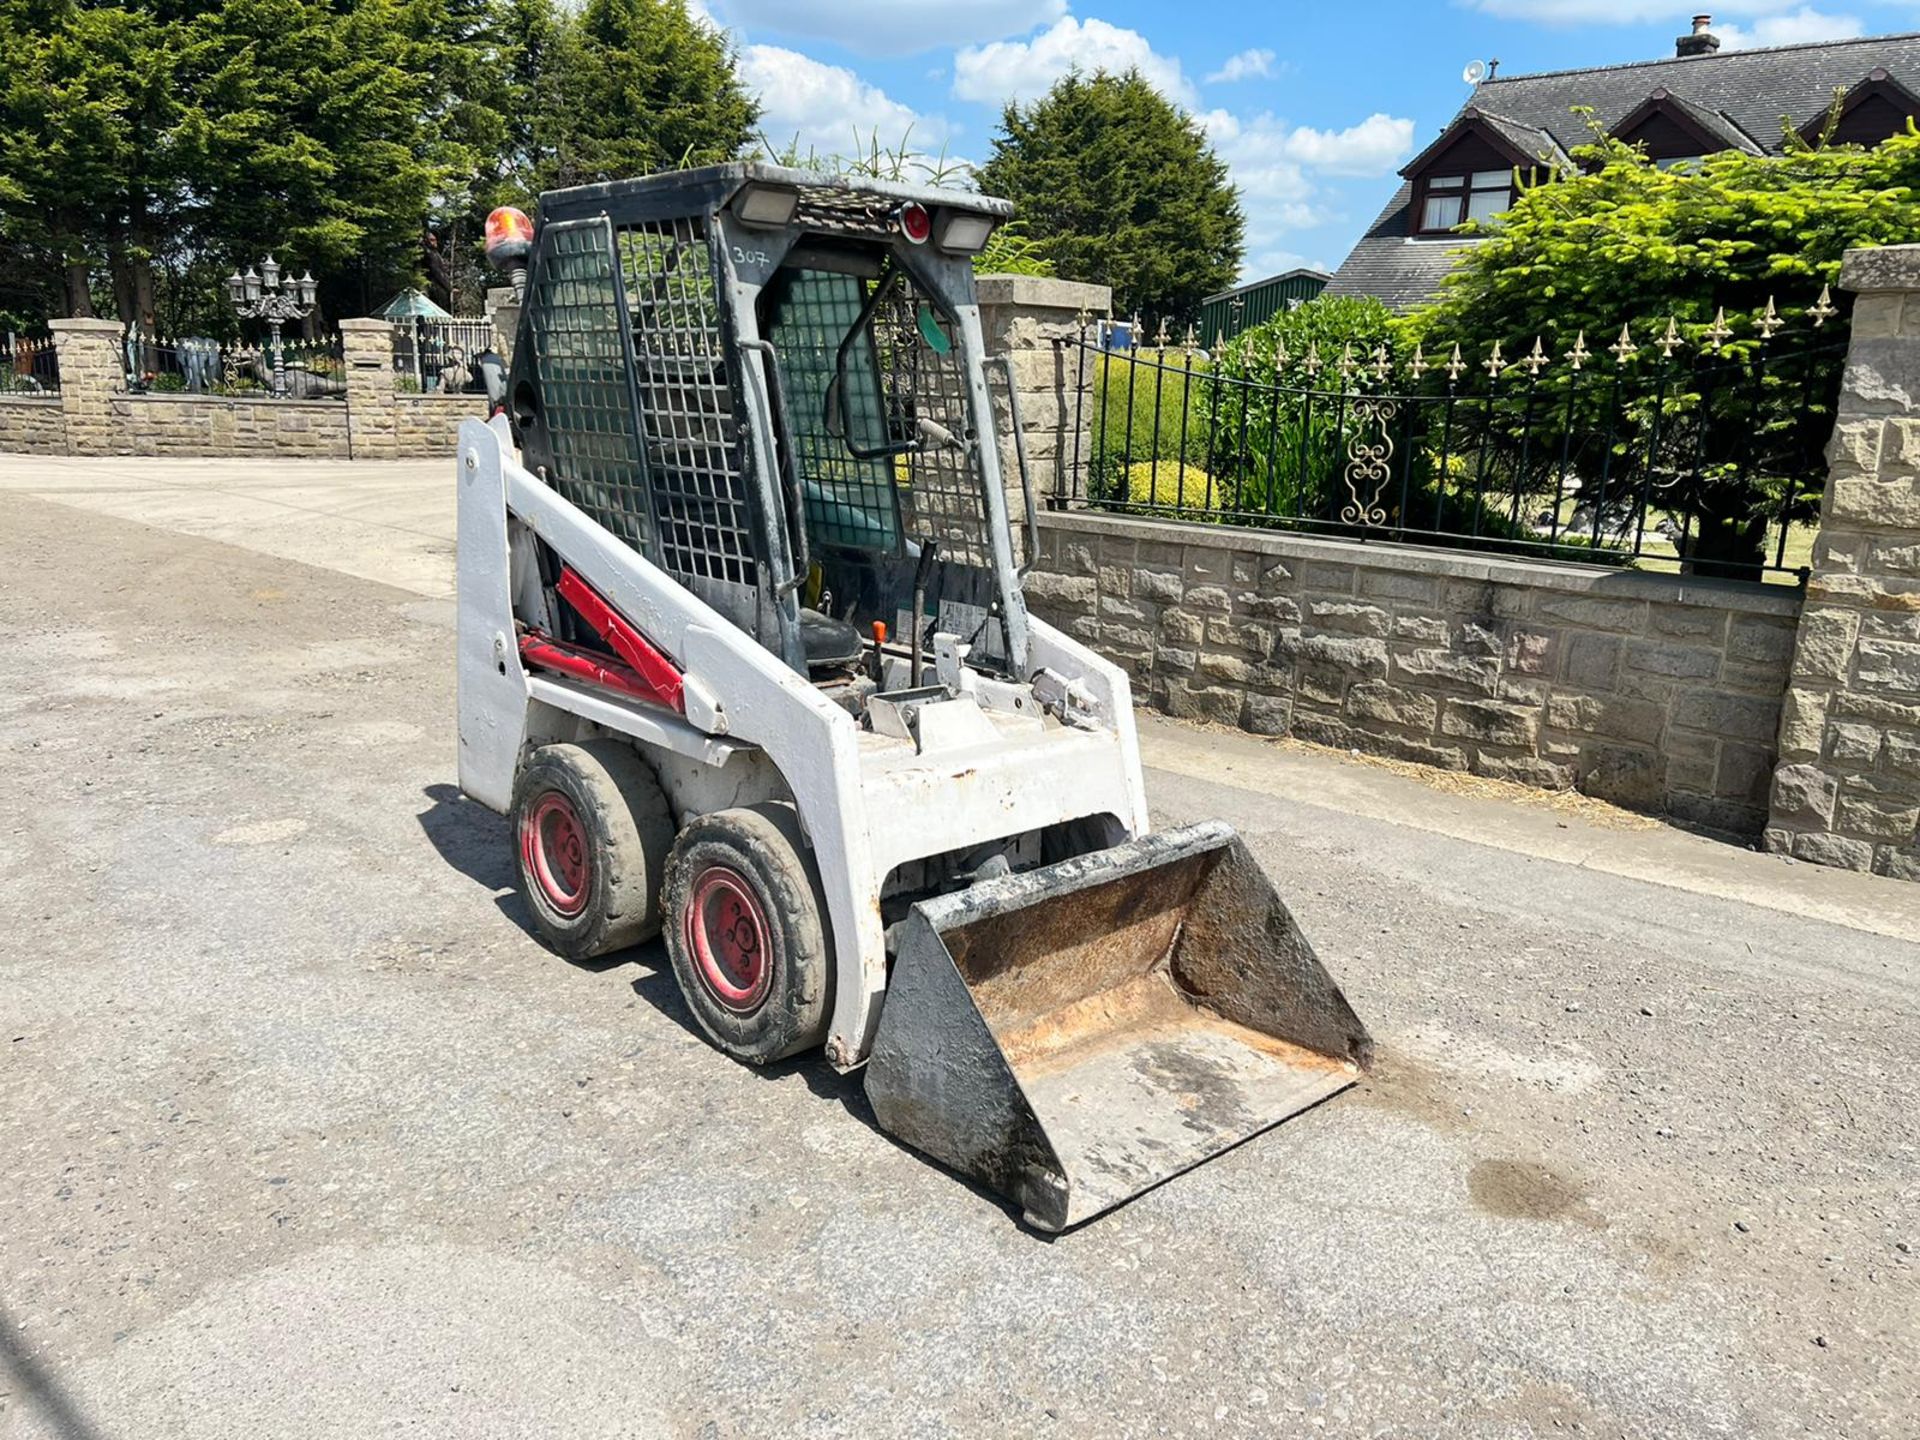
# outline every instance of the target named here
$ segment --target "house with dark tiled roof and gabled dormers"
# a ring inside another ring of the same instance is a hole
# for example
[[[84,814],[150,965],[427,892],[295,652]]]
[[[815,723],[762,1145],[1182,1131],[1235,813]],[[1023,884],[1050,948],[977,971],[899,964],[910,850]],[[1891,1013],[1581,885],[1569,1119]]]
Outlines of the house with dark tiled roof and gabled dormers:
[[[1678,165],[1720,150],[1778,156],[1789,134],[1818,140],[1830,123],[1834,142],[1872,146],[1910,117],[1920,117],[1920,35],[1720,50],[1713,17],[1695,15],[1672,58],[1490,75],[1400,171],[1400,190],[1325,294],[1427,303],[1459,252],[1478,244],[1455,227],[1509,209],[1521,179],[1572,167],[1590,123]]]

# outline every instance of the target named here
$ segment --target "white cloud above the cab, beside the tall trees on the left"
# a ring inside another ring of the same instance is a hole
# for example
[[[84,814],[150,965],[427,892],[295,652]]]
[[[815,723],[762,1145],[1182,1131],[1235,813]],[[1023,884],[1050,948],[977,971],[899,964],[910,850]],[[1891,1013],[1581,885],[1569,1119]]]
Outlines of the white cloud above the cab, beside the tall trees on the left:
[[[876,138],[883,148],[899,146],[912,131],[914,150],[939,152],[952,131],[945,115],[916,111],[851,69],[797,50],[741,46],[739,67],[760,98],[760,132],[776,148],[797,136],[803,154],[847,156]]]

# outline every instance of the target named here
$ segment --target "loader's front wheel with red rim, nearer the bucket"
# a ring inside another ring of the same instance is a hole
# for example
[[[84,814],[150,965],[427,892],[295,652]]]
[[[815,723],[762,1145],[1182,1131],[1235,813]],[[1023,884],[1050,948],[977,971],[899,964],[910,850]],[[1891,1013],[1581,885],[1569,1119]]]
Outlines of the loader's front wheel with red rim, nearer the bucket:
[[[666,860],[664,908],[674,979],[718,1048],[764,1066],[826,1039],[826,906],[791,804],[689,820]]]

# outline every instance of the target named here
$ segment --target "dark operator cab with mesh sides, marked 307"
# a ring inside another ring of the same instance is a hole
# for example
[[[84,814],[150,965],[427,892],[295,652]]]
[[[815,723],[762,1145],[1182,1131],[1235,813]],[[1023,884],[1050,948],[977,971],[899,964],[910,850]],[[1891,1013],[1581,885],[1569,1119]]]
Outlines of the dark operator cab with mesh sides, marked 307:
[[[528,467],[824,687],[918,684],[933,634],[1025,680],[972,276],[1008,213],[764,165],[543,196]]]

